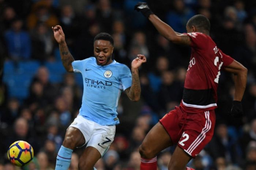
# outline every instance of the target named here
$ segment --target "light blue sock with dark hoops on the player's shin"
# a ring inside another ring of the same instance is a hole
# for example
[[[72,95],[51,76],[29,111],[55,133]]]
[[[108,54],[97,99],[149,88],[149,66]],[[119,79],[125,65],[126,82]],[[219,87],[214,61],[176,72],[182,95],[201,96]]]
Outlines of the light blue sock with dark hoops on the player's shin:
[[[68,170],[73,150],[61,145],[57,155],[55,170]]]

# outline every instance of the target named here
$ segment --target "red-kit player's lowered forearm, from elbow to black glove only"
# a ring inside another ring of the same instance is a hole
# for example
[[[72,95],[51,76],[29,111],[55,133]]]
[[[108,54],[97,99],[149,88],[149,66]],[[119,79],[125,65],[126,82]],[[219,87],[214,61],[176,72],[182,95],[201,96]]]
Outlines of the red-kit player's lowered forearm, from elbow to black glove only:
[[[235,94],[234,100],[241,101],[244,95],[245,87],[247,82],[247,69],[243,69],[236,75],[234,75],[234,83],[235,83]]]

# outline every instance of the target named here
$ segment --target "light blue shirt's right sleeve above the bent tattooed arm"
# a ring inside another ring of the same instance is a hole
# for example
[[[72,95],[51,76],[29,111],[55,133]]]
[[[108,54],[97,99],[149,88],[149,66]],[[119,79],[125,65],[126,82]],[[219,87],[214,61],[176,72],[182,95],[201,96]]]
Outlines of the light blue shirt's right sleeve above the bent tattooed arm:
[[[132,86],[132,73],[126,65],[124,65],[120,72],[120,81],[122,83],[123,90],[125,90]]]

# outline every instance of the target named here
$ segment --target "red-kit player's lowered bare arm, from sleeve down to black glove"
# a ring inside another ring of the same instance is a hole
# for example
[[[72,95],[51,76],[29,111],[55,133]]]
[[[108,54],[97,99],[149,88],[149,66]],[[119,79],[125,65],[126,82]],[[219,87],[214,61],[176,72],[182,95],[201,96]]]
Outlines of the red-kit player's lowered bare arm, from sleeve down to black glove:
[[[234,74],[235,95],[234,101],[241,101],[244,95],[247,82],[247,68],[234,60],[230,65],[224,67],[224,70]]]

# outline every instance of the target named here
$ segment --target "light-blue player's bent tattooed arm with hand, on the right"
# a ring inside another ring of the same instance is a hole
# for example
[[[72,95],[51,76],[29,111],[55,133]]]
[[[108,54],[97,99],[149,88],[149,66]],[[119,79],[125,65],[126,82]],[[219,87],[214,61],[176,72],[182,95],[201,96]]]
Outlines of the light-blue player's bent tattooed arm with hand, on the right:
[[[144,55],[139,54],[137,58],[132,61],[132,86],[125,90],[125,93],[131,101],[137,102],[140,99],[140,79],[139,67],[142,63],[146,63],[147,59]]]

